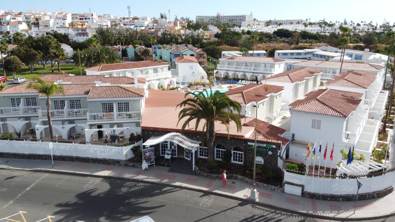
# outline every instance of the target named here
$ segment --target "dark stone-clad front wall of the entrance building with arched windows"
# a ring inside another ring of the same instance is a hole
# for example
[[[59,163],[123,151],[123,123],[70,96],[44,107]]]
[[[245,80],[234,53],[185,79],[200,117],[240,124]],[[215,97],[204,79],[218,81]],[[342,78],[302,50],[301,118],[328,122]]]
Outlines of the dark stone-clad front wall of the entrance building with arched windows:
[[[143,134],[143,141],[147,141],[150,137],[152,136],[160,136],[160,135],[165,135],[169,132],[163,132],[163,131],[153,131],[153,130],[142,130]],[[194,139],[196,141],[201,141],[201,134],[185,134],[187,137],[190,139]],[[206,137],[203,135],[203,142],[206,144]],[[214,147],[216,144],[221,144],[225,147],[225,149],[231,151],[233,147],[240,147],[244,151],[244,163],[243,165],[245,167],[252,167],[254,166],[254,152],[252,149],[250,149],[251,152],[248,152],[247,148],[252,147],[252,145],[248,145],[247,143],[251,142],[254,143],[253,140],[245,140],[245,139],[236,139],[236,138],[229,138],[228,137],[222,137],[222,136],[216,136],[214,140]],[[263,143],[258,141],[258,143]],[[280,149],[280,143],[271,143],[271,142],[265,142],[265,144],[271,144],[275,145],[276,148],[271,148],[270,151],[273,153],[271,155],[269,154],[257,154],[257,156],[261,156],[263,158],[264,164],[263,168],[268,171],[268,170],[273,170],[276,171],[277,173],[282,173],[282,171],[277,167],[277,152]],[[206,146],[206,145],[204,145]],[[155,148],[155,156],[160,155],[160,145],[154,145]],[[262,147],[258,147],[262,148]],[[198,153],[197,151],[195,152],[195,163],[198,161]]]

